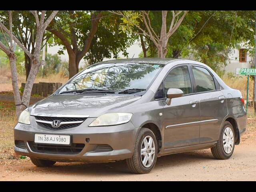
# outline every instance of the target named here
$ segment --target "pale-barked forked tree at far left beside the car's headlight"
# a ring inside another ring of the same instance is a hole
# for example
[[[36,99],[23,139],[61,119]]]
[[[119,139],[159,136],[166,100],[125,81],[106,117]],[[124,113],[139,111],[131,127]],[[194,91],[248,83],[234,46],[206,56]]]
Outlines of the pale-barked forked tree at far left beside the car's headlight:
[[[10,60],[10,67],[11,67],[11,74],[12,74],[12,87],[14,91],[14,101],[16,105],[16,116],[17,118],[20,116],[20,113],[22,110],[24,110],[28,105],[30,101],[30,95],[32,91],[32,86],[34,83],[34,80],[36,78],[36,74],[38,72],[38,69],[41,65],[40,62],[40,50],[42,46],[42,39],[44,32],[46,30],[46,27],[50,24],[54,16],[57,14],[58,11],[53,11],[48,18],[46,18],[46,11],[41,11],[40,14],[38,14],[37,11],[30,11],[36,21],[36,46],[34,53],[32,54],[30,50],[28,50],[19,40],[14,36],[12,31],[12,11],[9,11],[9,29],[6,28],[6,26],[0,22],[0,28],[2,32],[8,34],[10,38],[10,46],[6,47],[2,42],[0,42],[0,48],[3,50]],[[30,73],[28,75],[28,79],[26,81],[26,85],[24,88],[22,99],[20,99],[20,92],[18,88],[18,76],[17,76],[17,70],[16,70],[16,56],[13,51],[13,40],[22,48],[22,50],[29,56],[31,59],[31,69]]]

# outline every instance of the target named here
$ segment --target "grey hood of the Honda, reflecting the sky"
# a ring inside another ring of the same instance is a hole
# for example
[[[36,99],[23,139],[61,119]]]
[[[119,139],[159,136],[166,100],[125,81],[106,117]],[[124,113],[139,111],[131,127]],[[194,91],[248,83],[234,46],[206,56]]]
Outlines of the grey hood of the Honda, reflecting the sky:
[[[138,95],[66,94],[52,95],[32,106],[31,115],[88,115],[98,117],[140,99]],[[118,109],[115,110],[117,112]]]

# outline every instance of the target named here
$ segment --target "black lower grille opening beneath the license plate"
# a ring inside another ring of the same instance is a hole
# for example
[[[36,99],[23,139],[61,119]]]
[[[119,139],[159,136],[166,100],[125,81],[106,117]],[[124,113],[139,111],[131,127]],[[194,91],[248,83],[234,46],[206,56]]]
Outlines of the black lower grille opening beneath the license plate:
[[[79,154],[85,144],[83,143],[73,143],[71,146],[64,145],[52,145],[52,144],[38,144],[35,142],[28,142],[30,148],[34,152],[45,153],[45,154]]]

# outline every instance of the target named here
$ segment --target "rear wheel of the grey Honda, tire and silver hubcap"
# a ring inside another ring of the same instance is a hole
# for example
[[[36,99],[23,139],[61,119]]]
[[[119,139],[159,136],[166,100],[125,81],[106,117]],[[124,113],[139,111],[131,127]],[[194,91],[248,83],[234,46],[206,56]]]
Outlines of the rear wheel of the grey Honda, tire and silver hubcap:
[[[220,138],[216,146],[211,148],[212,155],[216,159],[228,159],[232,156],[235,148],[235,132],[232,124],[224,122],[220,132]]]

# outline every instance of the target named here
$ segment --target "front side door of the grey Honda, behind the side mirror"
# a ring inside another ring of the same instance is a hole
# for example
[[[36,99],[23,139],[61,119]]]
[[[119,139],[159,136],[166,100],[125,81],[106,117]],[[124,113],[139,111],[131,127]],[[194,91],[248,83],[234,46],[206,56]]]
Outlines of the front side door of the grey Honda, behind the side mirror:
[[[163,80],[164,97],[168,88],[179,88],[184,95],[172,98],[170,105],[162,100],[164,106],[164,149],[199,144],[200,107],[193,95],[188,65],[172,68]]]

